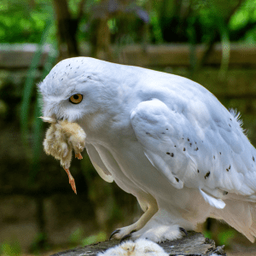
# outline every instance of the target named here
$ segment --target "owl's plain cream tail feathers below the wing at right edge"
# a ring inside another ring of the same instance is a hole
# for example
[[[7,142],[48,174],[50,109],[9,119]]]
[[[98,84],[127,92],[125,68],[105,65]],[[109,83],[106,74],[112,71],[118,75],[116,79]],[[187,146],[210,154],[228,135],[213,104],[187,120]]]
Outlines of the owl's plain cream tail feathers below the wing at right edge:
[[[226,200],[224,209],[215,209],[214,215],[254,242],[256,237],[256,204],[248,201]]]

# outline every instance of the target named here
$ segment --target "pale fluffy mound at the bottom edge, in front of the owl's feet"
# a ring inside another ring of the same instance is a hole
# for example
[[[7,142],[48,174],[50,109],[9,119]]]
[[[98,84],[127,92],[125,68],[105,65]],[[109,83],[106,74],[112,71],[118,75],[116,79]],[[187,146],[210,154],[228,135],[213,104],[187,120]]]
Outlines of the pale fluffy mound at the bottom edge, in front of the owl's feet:
[[[168,256],[168,253],[153,241],[138,239],[122,242],[104,253],[98,253],[97,256]]]

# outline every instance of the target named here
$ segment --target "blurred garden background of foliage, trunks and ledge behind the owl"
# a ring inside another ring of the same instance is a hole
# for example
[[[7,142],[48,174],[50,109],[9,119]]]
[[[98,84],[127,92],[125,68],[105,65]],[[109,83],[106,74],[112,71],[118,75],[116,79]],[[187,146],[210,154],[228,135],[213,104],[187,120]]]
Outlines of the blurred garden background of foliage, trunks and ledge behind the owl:
[[[78,195],[44,154],[36,84],[56,62],[90,55],[193,79],[241,112],[256,145],[256,0],[2,0],[0,254],[46,255],[105,240],[142,214],[136,199],[73,160]],[[253,246],[208,219],[233,252]]]

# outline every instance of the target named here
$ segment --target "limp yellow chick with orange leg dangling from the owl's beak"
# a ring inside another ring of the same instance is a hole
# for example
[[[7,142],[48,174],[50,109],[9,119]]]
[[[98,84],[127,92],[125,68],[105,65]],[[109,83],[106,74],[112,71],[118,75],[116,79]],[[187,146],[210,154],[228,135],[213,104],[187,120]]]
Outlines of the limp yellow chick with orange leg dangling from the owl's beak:
[[[56,160],[61,160],[61,166],[67,172],[69,183],[74,193],[77,194],[75,181],[69,172],[69,167],[73,150],[75,157],[79,160],[83,158],[81,152],[84,150],[86,137],[84,130],[78,124],[69,123],[67,120],[57,121],[49,117],[40,118],[51,124],[44,138],[44,151],[46,154],[54,156]]]

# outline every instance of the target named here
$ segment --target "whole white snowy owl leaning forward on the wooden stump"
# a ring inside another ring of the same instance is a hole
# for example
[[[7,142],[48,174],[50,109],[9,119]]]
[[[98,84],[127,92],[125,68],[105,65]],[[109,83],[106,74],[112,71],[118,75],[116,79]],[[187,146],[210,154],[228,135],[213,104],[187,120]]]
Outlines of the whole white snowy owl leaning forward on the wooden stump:
[[[99,175],[143,215],[116,239],[174,240],[218,218],[256,236],[256,150],[237,114],[189,79],[76,57],[38,84],[44,117],[77,123]]]

